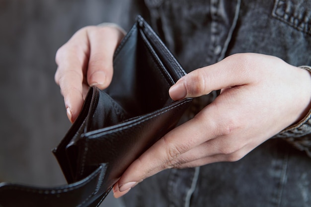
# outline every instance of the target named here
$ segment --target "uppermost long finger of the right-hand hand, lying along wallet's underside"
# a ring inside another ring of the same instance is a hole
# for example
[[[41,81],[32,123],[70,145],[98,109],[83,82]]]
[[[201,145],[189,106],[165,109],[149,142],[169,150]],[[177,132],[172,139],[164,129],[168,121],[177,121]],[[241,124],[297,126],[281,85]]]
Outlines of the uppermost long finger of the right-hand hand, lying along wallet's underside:
[[[121,191],[129,188],[128,183],[138,182],[151,176],[150,173],[156,174],[165,167],[163,163],[180,156],[180,154],[193,148],[195,145],[201,143],[198,138],[199,123],[195,119],[183,124],[182,128],[177,127],[163,138],[159,139],[150,149],[142,154],[139,159],[135,160],[130,167],[125,171],[119,180],[119,187]],[[150,161],[152,160],[152,162]]]

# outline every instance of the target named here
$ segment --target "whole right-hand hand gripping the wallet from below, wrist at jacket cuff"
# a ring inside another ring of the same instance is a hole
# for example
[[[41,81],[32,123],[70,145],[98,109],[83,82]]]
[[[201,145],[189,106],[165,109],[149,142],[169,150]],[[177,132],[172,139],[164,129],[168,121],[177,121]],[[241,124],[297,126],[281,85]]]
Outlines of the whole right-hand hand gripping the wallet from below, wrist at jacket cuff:
[[[309,72],[259,54],[236,54],[196,69],[179,79],[169,94],[179,100],[218,89],[221,94],[213,103],[130,165],[113,188],[116,198],[167,168],[239,160],[310,109]]]

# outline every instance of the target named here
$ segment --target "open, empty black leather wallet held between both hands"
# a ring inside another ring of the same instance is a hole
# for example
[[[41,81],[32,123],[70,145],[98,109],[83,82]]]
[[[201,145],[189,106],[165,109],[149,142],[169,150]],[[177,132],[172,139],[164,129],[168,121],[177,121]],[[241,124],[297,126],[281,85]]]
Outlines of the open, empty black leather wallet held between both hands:
[[[68,184],[1,183],[0,207],[98,207],[118,178],[172,130],[192,99],[170,99],[185,71],[138,16],[114,54],[108,88],[90,87],[82,110],[53,150]]]

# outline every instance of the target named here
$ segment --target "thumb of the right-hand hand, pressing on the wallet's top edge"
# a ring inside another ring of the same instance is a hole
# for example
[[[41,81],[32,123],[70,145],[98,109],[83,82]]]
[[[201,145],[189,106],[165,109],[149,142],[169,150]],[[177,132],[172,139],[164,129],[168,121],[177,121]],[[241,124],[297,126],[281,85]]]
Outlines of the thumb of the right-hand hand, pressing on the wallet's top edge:
[[[198,97],[213,90],[249,83],[252,54],[236,54],[214,65],[193,70],[180,78],[170,89],[173,100]]]

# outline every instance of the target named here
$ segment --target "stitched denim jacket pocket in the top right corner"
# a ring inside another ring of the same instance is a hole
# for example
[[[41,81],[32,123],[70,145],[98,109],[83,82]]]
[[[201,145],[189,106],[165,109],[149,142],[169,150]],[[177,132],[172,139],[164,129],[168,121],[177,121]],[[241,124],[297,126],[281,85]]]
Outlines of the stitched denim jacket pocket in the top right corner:
[[[311,0],[275,0],[272,16],[311,35]]]

